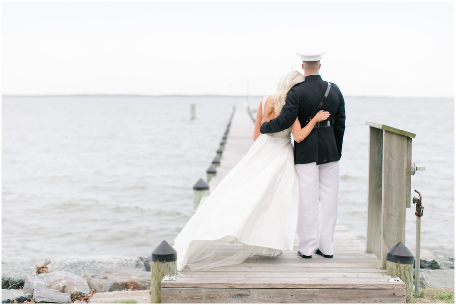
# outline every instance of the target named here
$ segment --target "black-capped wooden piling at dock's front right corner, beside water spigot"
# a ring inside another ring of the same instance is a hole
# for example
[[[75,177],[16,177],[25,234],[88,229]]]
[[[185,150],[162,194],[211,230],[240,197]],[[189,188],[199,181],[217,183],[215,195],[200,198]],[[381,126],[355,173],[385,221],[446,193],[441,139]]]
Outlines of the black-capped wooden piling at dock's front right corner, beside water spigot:
[[[386,274],[397,276],[405,283],[406,303],[413,303],[413,262],[412,252],[402,242],[386,255]]]

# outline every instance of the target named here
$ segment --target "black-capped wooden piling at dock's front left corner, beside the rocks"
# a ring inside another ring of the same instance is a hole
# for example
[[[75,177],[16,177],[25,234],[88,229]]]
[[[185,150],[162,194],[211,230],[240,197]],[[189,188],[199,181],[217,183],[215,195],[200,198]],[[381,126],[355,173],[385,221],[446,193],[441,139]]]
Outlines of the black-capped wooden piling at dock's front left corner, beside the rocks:
[[[163,240],[152,251],[150,262],[150,303],[161,303],[161,280],[165,275],[177,274],[177,252]]]

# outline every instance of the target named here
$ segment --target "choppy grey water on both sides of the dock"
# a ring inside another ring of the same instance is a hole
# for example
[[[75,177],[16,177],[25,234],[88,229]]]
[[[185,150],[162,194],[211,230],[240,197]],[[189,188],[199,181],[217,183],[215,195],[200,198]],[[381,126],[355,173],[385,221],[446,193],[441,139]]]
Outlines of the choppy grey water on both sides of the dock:
[[[260,98],[252,98],[256,108]],[[190,104],[197,118],[190,120]],[[192,215],[244,97],[3,97],[2,261],[150,254]],[[422,247],[454,249],[454,100],[347,97],[338,220],[365,241],[368,127],[417,134]],[[229,143],[227,144],[229,145]],[[415,248],[414,207],[406,244]]]

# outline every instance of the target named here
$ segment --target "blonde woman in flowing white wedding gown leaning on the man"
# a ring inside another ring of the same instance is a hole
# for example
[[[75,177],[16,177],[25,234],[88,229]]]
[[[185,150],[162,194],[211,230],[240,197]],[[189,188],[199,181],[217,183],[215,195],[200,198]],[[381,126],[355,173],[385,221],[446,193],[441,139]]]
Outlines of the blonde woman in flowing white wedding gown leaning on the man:
[[[297,118],[281,132],[260,134],[260,126],[262,119],[269,122],[280,114],[288,91],[302,81],[301,73],[288,73],[275,94],[259,103],[254,143],[175,239],[177,270],[239,264],[254,255],[293,250],[299,187],[290,132],[301,142],[329,112],[321,110],[304,128]]]

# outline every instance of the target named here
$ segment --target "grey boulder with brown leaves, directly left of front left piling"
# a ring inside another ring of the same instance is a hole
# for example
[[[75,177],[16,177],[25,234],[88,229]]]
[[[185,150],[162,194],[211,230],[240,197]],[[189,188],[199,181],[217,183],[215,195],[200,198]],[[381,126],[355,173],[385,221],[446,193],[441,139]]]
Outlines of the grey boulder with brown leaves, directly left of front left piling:
[[[150,287],[150,271],[113,268],[87,278],[90,289],[98,292],[145,290]]]

